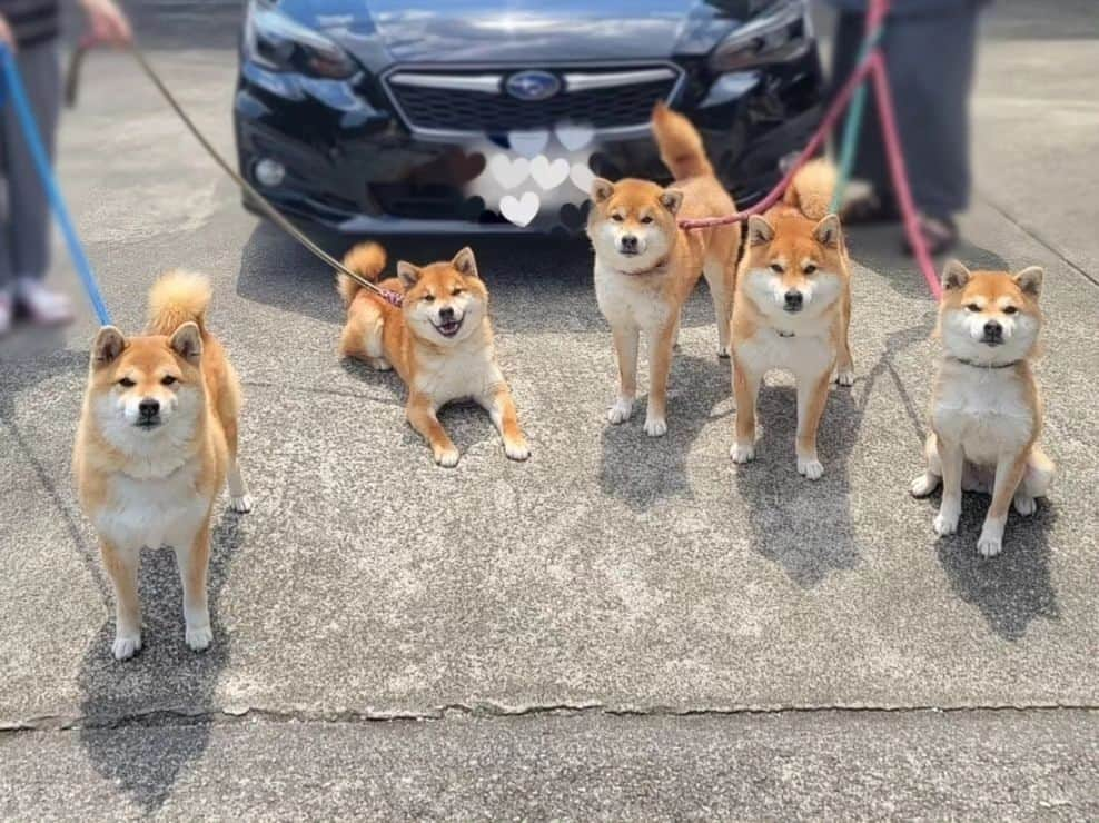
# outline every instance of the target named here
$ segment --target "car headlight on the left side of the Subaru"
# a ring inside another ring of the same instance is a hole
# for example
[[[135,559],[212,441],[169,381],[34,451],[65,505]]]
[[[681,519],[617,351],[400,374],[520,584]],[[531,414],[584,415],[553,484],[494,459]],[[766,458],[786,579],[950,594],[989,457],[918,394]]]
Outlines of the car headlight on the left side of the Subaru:
[[[273,0],[251,0],[245,18],[245,54],[268,71],[300,71],[344,80],[357,71],[352,57],[319,32],[278,10]]]

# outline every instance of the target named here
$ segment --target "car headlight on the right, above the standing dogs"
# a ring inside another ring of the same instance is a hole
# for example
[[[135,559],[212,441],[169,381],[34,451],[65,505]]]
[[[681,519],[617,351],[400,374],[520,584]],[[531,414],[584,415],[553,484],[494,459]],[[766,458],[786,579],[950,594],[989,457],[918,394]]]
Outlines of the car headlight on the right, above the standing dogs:
[[[776,0],[714,49],[710,68],[715,72],[739,71],[790,60],[804,53],[811,39],[809,3]]]

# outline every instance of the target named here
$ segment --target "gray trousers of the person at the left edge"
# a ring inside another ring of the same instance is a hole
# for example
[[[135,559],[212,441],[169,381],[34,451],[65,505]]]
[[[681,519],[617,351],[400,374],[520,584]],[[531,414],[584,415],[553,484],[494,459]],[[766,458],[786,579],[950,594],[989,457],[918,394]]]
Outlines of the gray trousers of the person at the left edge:
[[[56,44],[20,49],[16,62],[52,160],[61,105]],[[7,288],[16,277],[44,277],[50,262],[49,202],[10,101],[0,109],[0,178],[7,195],[0,200],[0,288]]]

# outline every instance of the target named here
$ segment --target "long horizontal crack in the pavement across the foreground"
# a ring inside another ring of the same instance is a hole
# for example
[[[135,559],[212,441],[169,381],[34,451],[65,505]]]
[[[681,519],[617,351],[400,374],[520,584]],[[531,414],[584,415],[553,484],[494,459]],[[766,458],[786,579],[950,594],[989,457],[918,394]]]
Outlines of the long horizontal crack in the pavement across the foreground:
[[[42,732],[69,732],[77,730],[162,728],[195,725],[230,725],[254,720],[269,723],[420,723],[445,721],[453,717],[479,720],[507,720],[541,715],[553,716],[610,716],[610,717],[737,717],[771,716],[784,714],[968,714],[968,713],[1028,713],[1028,712],[1099,712],[1099,704],[1089,703],[989,703],[950,705],[888,705],[888,704],[826,704],[826,705],[742,705],[683,707],[674,706],[608,706],[601,703],[547,703],[528,706],[505,706],[499,703],[449,703],[423,711],[340,711],[310,712],[263,708],[258,706],[220,710],[149,710],[117,717],[80,717],[43,715],[26,721],[0,721],[0,741],[18,734]]]

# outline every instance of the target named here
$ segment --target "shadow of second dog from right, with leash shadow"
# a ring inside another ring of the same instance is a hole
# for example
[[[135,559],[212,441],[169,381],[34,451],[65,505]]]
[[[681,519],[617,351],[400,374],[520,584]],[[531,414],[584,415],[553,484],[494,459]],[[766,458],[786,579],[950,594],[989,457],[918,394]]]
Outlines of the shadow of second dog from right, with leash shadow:
[[[891,380],[901,393],[908,426],[922,442],[922,415],[905,391],[894,363],[905,349],[925,340],[933,324],[934,315],[929,313],[919,324],[890,334],[883,355],[865,376],[857,371],[854,386],[831,388],[818,437],[824,464],[820,480],[806,480],[798,474],[794,387],[764,384],[760,389],[756,456],[753,463],[735,467],[736,489],[749,510],[753,549],[782,566],[798,585],[816,586],[831,572],[850,571],[859,563],[848,462],[880,380]],[[857,369],[858,365],[857,359]]]

